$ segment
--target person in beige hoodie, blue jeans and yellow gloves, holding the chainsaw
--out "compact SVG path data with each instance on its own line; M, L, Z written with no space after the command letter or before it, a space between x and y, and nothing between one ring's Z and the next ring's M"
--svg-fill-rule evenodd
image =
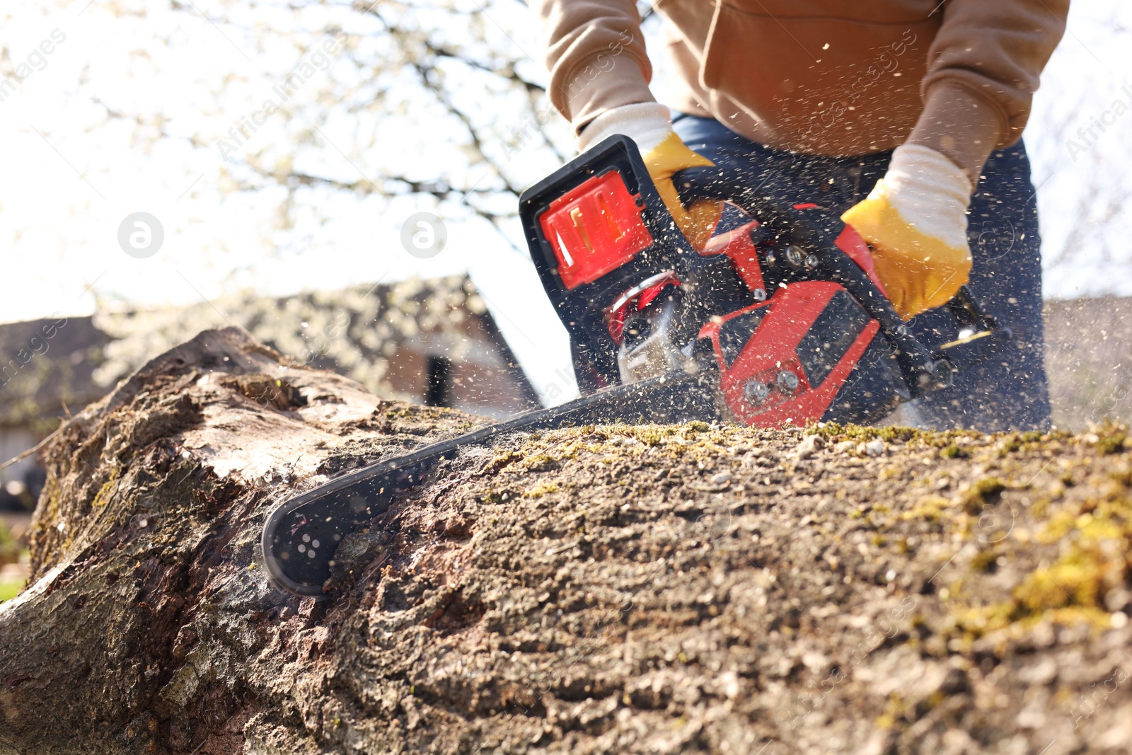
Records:
M920 400L919 421L1048 427L1037 204L1020 138L1069 0L662 0L675 118L649 89L633 0L532 6L551 101L578 148L633 138L694 246L719 208L680 206L670 177L685 168L726 165L764 194L843 212L925 343L954 337L953 318L931 310L968 282L1014 333Z

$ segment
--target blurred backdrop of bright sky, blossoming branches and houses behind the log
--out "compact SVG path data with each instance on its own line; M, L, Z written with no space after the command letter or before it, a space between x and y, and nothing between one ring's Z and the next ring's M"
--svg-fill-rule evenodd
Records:
M0 462L226 325L394 398L505 417L576 395L516 217L574 154L524 3L17 0L0 19ZM1026 134L1067 429L1132 414L1130 29L1126 2L1074 3ZM42 483L34 454L0 470L0 600Z

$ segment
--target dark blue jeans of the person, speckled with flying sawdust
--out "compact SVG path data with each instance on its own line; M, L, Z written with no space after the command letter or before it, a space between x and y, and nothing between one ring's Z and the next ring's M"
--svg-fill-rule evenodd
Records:
M813 201L838 213L864 199L884 175L891 152L822 157L772 149L710 118L674 113L676 132L717 165L732 168L762 192L791 204ZM971 198L968 238L975 266L970 288L983 309L1009 326L1014 341L1002 353L968 368L954 385L915 402L919 423L983 431L1049 427L1049 395L1043 363L1041 240L1030 161L1019 141L990 154ZM745 221L724 213L721 230ZM909 326L929 348L951 341L959 328L949 311L933 310Z

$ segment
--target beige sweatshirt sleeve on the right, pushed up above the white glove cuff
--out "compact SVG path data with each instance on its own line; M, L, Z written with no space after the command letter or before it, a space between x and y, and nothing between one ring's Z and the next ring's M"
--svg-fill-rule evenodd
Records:
M1069 0L946 0L928 51L912 137L977 177L1022 136L1038 78L1065 32Z

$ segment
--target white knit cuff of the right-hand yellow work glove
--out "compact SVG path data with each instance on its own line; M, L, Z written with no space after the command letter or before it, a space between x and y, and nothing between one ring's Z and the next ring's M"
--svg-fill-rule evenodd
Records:
M919 144L904 144L869 195L886 197L904 222L947 246L967 243L967 207L971 204L967 172L941 153Z

